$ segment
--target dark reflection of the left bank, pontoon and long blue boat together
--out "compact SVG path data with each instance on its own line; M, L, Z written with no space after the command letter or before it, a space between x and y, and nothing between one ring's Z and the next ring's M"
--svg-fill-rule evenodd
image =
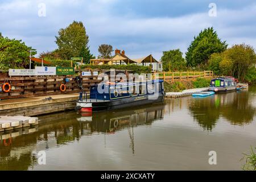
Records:
M164 105L155 105L82 116L73 111L43 115L39 117L39 126L0 133L0 171L33 169L38 166L36 152L48 151L99 132L113 134L128 129L127 137L134 152L133 127L151 125L154 120L163 118L163 108Z

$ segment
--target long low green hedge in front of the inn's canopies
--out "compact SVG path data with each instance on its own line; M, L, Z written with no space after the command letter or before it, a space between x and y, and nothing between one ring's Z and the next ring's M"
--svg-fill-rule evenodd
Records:
M128 64L128 65L109 65L109 64L102 64L102 65L90 65L84 64L81 65L81 69L88 68L88 69L126 69L131 70L134 73L151 73L150 67L145 67L136 64Z

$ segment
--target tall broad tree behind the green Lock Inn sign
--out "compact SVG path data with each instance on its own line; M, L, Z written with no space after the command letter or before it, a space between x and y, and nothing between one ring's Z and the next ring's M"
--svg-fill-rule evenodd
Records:
M62 59L78 57L82 48L88 49L89 37L82 22L73 21L68 27L61 28L58 34L55 42Z

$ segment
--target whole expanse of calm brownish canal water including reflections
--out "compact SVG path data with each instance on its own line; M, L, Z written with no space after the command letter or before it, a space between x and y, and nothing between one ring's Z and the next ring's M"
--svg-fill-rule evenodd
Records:
M0 170L240 170L256 146L256 87L109 112L56 113L0 133ZM209 152L217 164L209 164ZM215 156L215 155L214 155Z

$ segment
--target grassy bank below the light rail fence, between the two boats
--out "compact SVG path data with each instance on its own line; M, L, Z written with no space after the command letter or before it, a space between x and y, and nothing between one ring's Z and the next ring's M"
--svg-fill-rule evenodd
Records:
M165 92L181 92L186 89L203 88L210 85L210 78L197 78L196 80L164 81Z

